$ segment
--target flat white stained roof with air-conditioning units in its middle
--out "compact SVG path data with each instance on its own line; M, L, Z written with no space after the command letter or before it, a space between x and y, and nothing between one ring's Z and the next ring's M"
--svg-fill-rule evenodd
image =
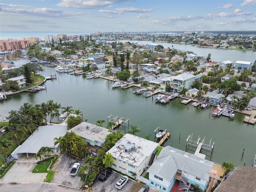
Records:
M129 142L131 144L129 144ZM125 148L134 146L133 143L135 144L137 150L125 152ZM114 158L138 167L146 157L149 157L152 152L154 152L157 146L158 143L156 142L127 133L118 142L116 142L116 144L108 152L111 153Z

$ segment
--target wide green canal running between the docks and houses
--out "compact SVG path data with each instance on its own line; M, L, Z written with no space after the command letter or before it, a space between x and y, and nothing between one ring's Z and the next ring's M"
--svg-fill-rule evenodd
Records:
M25 64L27 60L15 59L17 66ZM155 103L150 98L133 94L135 88L122 90L112 89L111 83L102 78L86 79L83 76L72 76L55 71L54 68L44 67L44 76L57 74L56 80L46 81L46 90L36 93L24 92L8 96L7 100L0 101L0 114L8 116L10 110L18 110L24 102L40 104L48 100L60 103L62 106L72 106L73 109L83 111L83 118L96 124L97 120L106 120L107 117L123 117L129 119L129 124L140 128L138 136L145 138L151 134L154 140L154 130L160 126L171 132L170 138L164 146L170 145L185 150L186 138L193 134L192 139L205 143L214 142L212 161L221 164L231 161L236 166L252 166L256 153L256 127L243 122L244 115L235 114L234 118L220 116L213 117L212 108L206 110L195 108L190 104L181 104L176 98L167 104ZM3 118L0 117L0 118ZM104 124L106 127L106 124ZM129 128L120 127L121 132ZM244 156L242 152L244 150Z

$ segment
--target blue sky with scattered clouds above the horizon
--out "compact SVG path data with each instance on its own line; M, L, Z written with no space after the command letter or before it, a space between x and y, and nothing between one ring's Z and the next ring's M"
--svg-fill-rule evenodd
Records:
M1 0L0 32L256 30L256 0Z

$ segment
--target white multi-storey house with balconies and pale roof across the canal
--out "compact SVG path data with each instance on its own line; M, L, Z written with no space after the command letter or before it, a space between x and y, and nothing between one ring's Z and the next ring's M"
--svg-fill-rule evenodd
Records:
M190 73L182 73L171 77L170 86L174 93L180 93L183 89L191 89L194 82L194 75Z

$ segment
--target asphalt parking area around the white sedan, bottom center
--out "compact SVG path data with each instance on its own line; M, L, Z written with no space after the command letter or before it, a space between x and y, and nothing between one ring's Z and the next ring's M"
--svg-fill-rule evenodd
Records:
M136 183L132 180L128 180L128 182L122 187L121 190L115 187L116 182L121 178L120 174L113 172L106 181L99 181L98 179L94 183L92 187L92 192L135 192L140 189L142 184Z

